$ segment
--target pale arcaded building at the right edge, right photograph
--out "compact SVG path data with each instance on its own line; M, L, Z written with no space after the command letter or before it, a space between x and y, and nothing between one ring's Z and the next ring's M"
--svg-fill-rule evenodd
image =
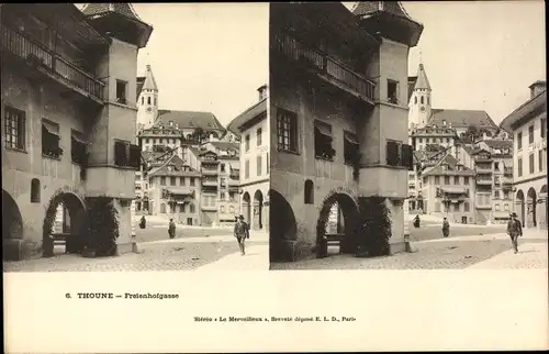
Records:
M547 84L501 123L513 134L513 210L528 229L547 229Z

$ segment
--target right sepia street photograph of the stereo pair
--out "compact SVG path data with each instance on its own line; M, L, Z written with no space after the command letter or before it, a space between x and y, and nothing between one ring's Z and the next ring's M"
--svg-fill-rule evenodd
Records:
M271 3L271 269L547 268L540 9Z

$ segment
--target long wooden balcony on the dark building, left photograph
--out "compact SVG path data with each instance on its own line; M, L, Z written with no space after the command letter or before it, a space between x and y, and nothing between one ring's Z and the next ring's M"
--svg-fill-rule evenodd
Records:
M60 57L44 44L33 41L22 33L0 25L0 47L2 52L25 60L27 65L45 76L63 84L72 91L93 101L103 103L104 84L77 65Z

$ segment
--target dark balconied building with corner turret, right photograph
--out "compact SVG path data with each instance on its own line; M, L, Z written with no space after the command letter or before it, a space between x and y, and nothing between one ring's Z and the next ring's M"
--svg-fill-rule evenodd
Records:
M373 196L404 251L407 56L422 31L400 2L270 5L271 261L318 251L335 203L356 252L358 206Z

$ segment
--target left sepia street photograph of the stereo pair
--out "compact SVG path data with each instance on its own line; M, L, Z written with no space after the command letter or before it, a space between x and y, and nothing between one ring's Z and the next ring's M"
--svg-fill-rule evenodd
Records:
M267 4L0 9L4 272L268 269Z

